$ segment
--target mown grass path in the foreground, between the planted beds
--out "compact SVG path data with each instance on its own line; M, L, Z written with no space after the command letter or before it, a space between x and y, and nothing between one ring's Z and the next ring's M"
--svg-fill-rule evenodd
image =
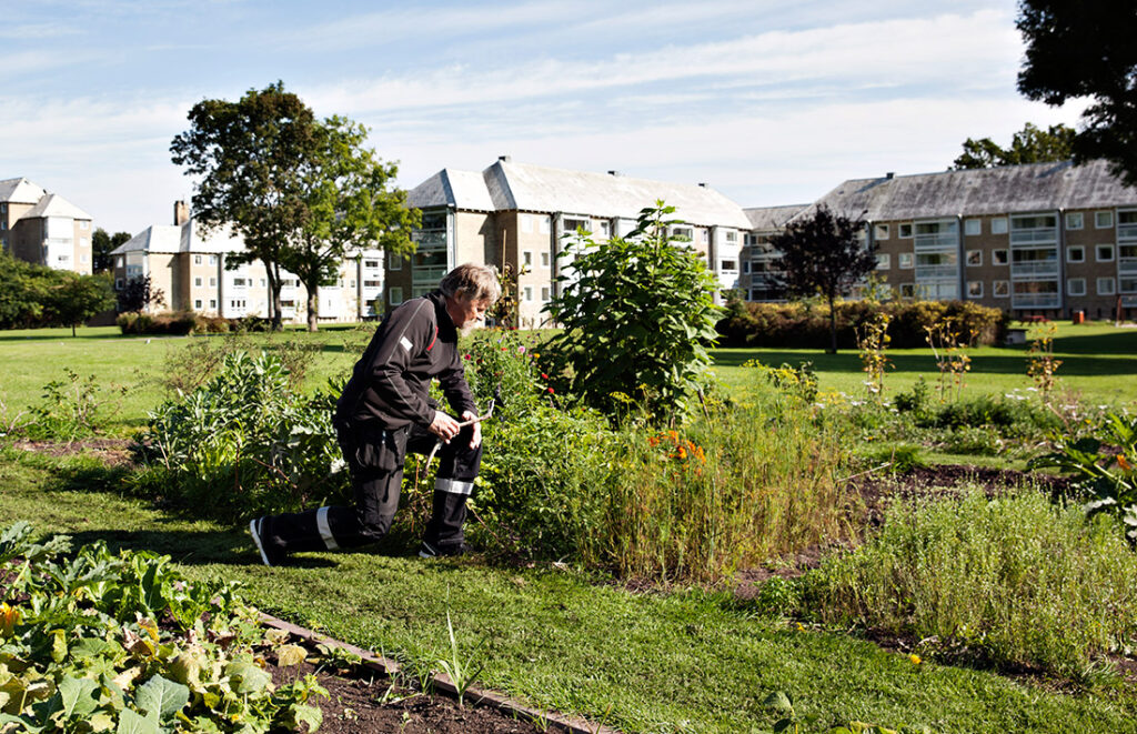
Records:
M551 567L492 568L313 554L260 566L241 529L119 497L98 462L0 451L0 525L25 518L81 543L172 554L198 577L238 579L263 609L420 665L482 639L481 683L631 732L767 731L762 706L790 691L829 725L857 718L936 732L1137 732L1129 689L1057 693L989 672L931 664L828 632L797 632L729 593L629 593ZM93 489L86 489L93 487ZM820 725L819 729L822 728Z

